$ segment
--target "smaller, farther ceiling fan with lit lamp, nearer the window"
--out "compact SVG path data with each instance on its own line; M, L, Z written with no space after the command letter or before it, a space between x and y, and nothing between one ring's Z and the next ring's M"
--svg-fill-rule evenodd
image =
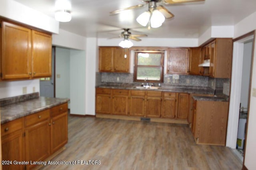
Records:
M123 48L132 47L133 43L128 39L135 40L135 41L141 41L141 39L139 39L138 37L146 37L147 36L146 34L138 34L138 35L132 34L131 32L129 32L129 30L130 30L129 28L123 28L123 30L124 31L121 32L121 34L118 37L114 37L114 38L124 38L124 40L122 40L119 43L119 46L123 47Z

